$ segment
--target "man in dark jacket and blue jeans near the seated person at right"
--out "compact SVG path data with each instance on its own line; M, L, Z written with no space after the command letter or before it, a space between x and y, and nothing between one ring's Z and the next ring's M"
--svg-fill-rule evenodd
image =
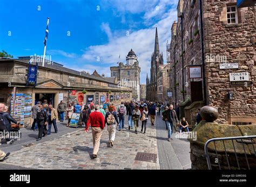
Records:
M173 105L169 106L168 110L165 110L163 112L163 118L165 118L167 127L168 127L168 141L171 141L172 138L172 133L173 133L173 124L174 124L174 119L176 120L176 123L179 124L179 120L177 118L176 111L173 110Z

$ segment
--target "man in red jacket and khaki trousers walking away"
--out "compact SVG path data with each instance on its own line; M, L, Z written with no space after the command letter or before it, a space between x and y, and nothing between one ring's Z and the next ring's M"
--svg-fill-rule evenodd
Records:
M100 137L102 136L103 128L105 126L105 119L102 113L99 112L99 105L95 106L95 112L91 112L87 120L85 132L88 133L89 126L92 127L92 139L93 139L93 159L97 158L99 150Z

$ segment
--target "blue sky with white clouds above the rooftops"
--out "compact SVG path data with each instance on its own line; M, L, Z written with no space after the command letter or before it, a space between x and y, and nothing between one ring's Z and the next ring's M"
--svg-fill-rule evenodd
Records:
M132 48L141 68L140 83L145 84L156 27L166 63L177 4L178 0L1 0L0 50L14 58L43 56L49 17L46 57L67 68L90 74L96 69L110 77L110 67L126 63Z

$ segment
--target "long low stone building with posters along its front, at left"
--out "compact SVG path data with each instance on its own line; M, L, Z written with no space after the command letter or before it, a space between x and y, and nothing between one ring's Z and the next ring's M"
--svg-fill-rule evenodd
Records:
M118 87L115 78L90 75L68 69L58 63L38 63L37 85L26 85L30 59L0 59L0 103L9 106L12 116L24 126L31 124L31 107L39 100L48 100L57 109L60 100L95 104L111 102L119 105L131 100L132 89ZM15 93L15 102L12 94Z

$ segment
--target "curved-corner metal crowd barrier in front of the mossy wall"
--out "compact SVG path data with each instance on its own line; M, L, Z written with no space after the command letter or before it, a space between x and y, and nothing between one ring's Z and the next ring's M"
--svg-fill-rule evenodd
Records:
M255 148L254 148L254 143L255 142L253 142L253 138L256 138L256 135L253 135L253 136L236 136L236 137L227 137L227 138L213 138L213 139L208 140L205 143L205 155L206 155L208 169L212 169L212 165L211 165L211 161L210 161L210 156L208 154L208 147L207 146L212 141L214 143L214 148L215 148L215 153L216 153L216 156L217 156L217 159L218 159L219 169L221 169L221 167L220 167L220 162L219 162L219 157L218 157L218 152L217 152L217 149L216 149L215 141L222 141L223 142L223 146L224 146L224 149L225 149L225 155L226 155L226 159L227 159L228 169L230 169L230 162L228 161L228 154L227 154L226 147L225 147L225 142L224 142L226 140L231 140L232 141L233 148L234 148L235 159L237 160L238 169L240 169L240 165L239 165L238 157L237 157L237 152L235 151L235 146L234 146L234 141L233 141L233 140L236 140L237 142L242 143L242 147L244 148L246 163L247 163L248 169L250 170L250 165L248 163L248 158L247 158L247 155L246 155L244 143L252 143L254 156L256 157L256 152L255 152ZM248 140L248 139L250 139L250 140Z

